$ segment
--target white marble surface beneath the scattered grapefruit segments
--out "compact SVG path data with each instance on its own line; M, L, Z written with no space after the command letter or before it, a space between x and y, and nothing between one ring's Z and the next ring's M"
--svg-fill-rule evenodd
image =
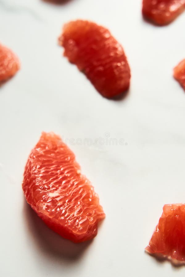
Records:
M132 71L125 99L103 98L62 57L61 26L77 18L122 43ZM185 94L172 78L184 26L185 14L167 27L144 22L136 0L0 0L0 40L22 67L0 87L2 277L184 276L144 252L163 205L185 202ZM60 238L24 200L24 166L43 130L75 139L109 132L128 143L70 146L106 213L91 243Z

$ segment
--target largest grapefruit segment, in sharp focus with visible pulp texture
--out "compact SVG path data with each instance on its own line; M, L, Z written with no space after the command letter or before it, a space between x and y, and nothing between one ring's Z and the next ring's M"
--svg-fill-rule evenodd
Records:
M74 153L54 133L42 133L27 160L23 179L27 202L52 230L82 242L97 235L105 217Z

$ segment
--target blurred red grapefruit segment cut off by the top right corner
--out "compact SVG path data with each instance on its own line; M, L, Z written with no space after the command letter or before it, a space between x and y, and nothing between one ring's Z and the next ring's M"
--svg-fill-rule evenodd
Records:
M143 0L142 14L157 25L167 25L185 9L185 0Z

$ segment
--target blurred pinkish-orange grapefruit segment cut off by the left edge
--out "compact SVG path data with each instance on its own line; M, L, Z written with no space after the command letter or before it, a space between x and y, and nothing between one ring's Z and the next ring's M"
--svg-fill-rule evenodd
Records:
M0 44L0 82L14 76L19 68L17 56L9 48Z

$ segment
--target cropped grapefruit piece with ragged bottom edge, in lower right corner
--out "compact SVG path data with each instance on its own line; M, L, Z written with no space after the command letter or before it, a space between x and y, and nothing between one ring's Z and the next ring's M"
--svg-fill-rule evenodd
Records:
M185 262L185 204L167 204L146 252L172 263Z

